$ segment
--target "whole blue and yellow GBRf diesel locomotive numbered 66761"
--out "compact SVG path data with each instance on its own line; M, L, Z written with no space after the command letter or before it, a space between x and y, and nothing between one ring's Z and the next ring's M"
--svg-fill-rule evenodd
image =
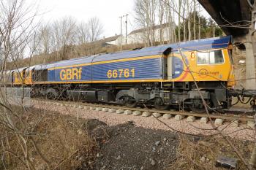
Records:
M146 104L203 112L231 107L235 91L231 36L106 53L10 70L3 81L32 96ZM200 93L196 87L200 90Z

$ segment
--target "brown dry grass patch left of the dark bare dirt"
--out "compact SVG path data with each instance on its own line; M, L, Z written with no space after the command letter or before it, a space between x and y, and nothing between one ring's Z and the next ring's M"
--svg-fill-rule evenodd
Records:
M26 125L31 125L27 129L31 136L34 136L42 155L50 162L51 169L88 169L90 167L90 162L95 158L96 142L89 137L86 129L81 128L86 127L85 120L33 109L23 115L23 121ZM6 128L0 125L1 136L4 136L5 131ZM7 134L10 133L7 131ZM4 164L7 169L26 169L26 165L21 161L23 160L22 150L18 147L15 135L5 138L3 144L6 149L9 148L13 152L13 154L4 155ZM35 168L45 169L46 164L31 142L28 147L30 161ZM2 144L0 154L3 155ZM0 169L4 169L3 161L0 163Z

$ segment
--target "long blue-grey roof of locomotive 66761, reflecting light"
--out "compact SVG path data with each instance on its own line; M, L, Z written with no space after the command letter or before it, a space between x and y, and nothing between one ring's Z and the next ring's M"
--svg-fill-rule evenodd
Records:
M198 39L189 42L180 42L169 45L159 45L155 47L145 47L140 50L129 50L118 53L106 53L99 55L85 56L82 58L72 58L65 61L58 61L55 63L48 63L34 66L35 70L50 69L56 66L72 66L80 63L91 63L97 61L110 61L123 58L135 58L146 55L162 55L168 49L177 52L178 49L185 50L209 50L214 48L225 48L231 42L231 36L214 37L209 39Z

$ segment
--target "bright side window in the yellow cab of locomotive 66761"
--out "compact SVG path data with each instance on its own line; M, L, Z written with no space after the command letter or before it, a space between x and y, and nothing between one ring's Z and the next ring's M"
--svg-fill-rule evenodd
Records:
M224 63L222 50L212 50L197 53L197 64L218 64Z

